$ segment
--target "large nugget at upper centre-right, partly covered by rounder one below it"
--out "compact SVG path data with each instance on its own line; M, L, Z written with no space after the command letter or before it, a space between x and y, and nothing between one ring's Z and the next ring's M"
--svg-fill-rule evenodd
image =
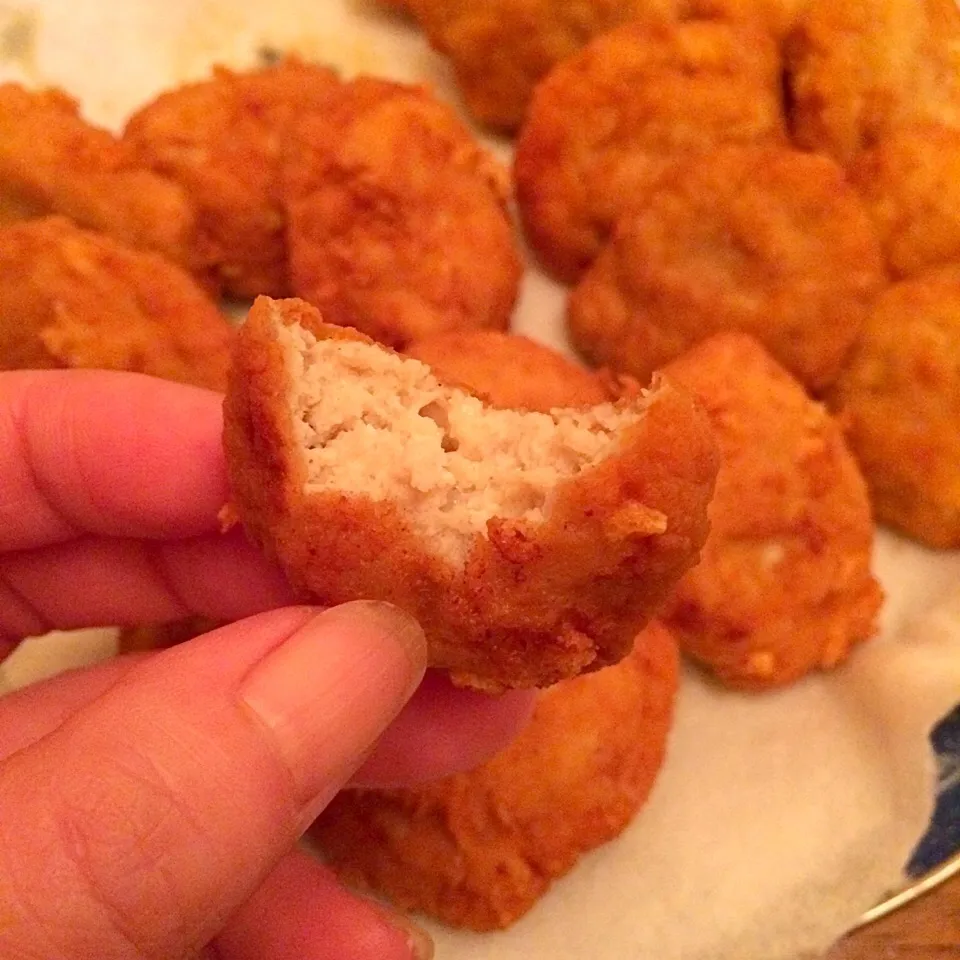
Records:
M745 23L633 23L537 87L517 141L517 202L534 250L563 280L670 163L723 142L782 139L779 55Z

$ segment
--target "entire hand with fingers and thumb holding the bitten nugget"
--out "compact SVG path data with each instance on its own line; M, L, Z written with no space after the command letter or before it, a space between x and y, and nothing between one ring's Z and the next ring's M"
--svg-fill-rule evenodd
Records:
M0 374L0 656L52 628L237 620L0 699L0 956L407 960L429 945L298 850L347 783L472 766L530 698L424 673L385 605L295 605L227 497L220 398Z

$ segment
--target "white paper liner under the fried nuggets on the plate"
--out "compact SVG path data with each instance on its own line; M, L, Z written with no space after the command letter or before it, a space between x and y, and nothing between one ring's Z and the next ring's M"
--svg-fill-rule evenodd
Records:
M5 43L10 31L19 45ZM424 80L456 101L442 61L373 3L0 0L0 78L60 85L110 126L215 62L252 65L262 47ZM514 329L564 347L563 300L531 270ZM439 956L797 960L899 885L932 810L927 734L960 700L960 552L881 533L876 569L888 591L880 638L837 673L773 695L688 672L667 764L635 823L510 930L432 926ZM102 631L31 641L0 670L0 690L113 648Z

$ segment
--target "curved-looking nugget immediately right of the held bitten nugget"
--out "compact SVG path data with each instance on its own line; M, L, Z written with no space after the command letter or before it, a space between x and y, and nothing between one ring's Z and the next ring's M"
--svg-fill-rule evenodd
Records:
M867 490L840 425L742 334L665 373L706 407L722 461L710 536L664 621L730 686L836 666L875 632L882 599Z

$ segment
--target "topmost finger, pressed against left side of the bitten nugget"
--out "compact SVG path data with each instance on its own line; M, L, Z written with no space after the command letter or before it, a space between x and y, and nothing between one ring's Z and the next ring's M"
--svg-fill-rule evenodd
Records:
M0 551L215 530L228 491L221 403L141 374L0 374Z

